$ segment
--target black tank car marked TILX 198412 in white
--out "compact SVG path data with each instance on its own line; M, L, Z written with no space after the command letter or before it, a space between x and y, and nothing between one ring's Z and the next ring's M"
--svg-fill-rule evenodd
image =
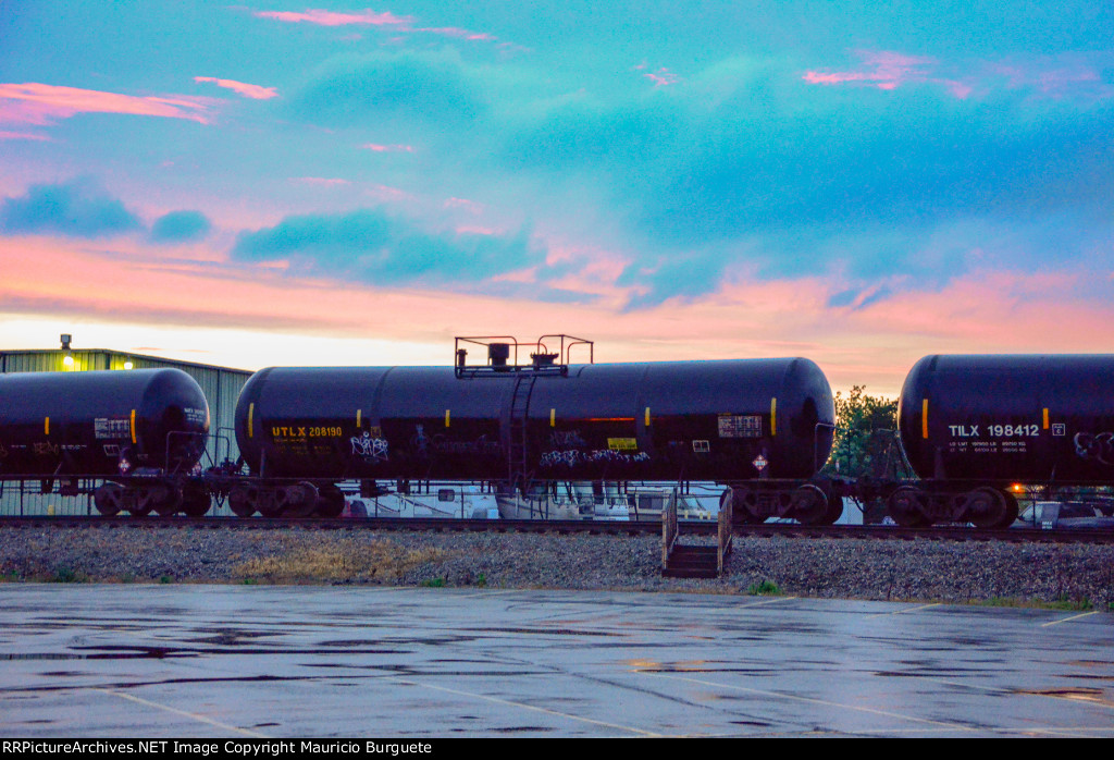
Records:
M1017 517L1014 484L1114 485L1114 355L930 355L909 372L901 444L922 480L902 525Z

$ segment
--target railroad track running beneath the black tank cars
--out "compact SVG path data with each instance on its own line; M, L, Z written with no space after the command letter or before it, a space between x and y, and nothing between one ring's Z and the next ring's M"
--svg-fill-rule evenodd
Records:
M0 516L0 529L43 527L90 530L144 530L179 528L195 530L387 530L433 533L553 533L639 536L661 534L656 522L620 520L491 520L430 517L370 517L367 519L314 519L264 517L84 517L84 516ZM682 535L713 536L714 523L681 522ZM965 526L902 528L887 525L809 526L795 523L736 525L735 536L783 536L791 538L843 538L889 540L1007 540L1012 543L1114 544L1114 528L1022 528L979 530Z

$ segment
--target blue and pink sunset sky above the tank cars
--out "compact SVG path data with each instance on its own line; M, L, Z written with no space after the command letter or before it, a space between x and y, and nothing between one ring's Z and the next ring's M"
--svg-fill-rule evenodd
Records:
M1114 6L0 0L0 350L1112 352Z

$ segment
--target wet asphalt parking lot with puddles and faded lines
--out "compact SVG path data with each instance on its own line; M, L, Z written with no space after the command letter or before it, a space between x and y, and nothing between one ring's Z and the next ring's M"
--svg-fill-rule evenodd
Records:
M791 597L6 584L0 733L1111 737L1112 634Z

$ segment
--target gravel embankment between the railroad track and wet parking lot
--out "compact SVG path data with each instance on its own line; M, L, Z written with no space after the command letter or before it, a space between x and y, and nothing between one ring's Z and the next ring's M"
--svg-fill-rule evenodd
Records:
M658 537L213 528L0 528L9 582L316 583L1114 603L1114 547L736 538L716 579L661 575Z

